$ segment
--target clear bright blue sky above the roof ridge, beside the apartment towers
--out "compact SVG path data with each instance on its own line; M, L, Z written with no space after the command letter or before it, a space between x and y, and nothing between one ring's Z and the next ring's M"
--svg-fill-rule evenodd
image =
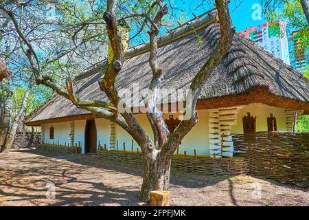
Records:
M213 8L209 3L205 3L205 5L196 9L196 6L200 5L201 2L201 0L176 0L176 6L187 12L190 19L193 19L194 17L190 12L194 12L194 14L198 15ZM266 22L263 16L262 19L252 19L252 14L256 10L256 8L252 9L252 7L256 3L260 3L260 0L231 0L229 8L233 25L236 26L236 31L244 30L249 26L259 25L260 23Z

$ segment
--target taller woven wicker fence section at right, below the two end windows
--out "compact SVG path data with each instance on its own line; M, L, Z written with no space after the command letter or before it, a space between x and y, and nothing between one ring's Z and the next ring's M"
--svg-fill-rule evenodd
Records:
M258 132L233 142L251 175L309 186L309 133Z

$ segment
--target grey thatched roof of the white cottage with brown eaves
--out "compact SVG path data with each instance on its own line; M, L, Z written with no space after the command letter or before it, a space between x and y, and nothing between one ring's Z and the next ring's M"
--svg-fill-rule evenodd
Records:
M207 60L218 39L219 25L214 23L159 47L159 66L164 71L163 88L190 87L192 79ZM133 83L139 83L139 89L148 88L152 77L148 58L148 52L130 58L119 74L117 87L132 88ZM92 72L91 76L84 74L84 78L76 80L78 96L106 100L106 95L98 86L98 79L104 74L104 62L102 64L102 72ZM253 41L235 34L228 55L207 79L197 109L264 103L309 111L308 94L307 78ZM54 96L27 118L26 124L35 126L50 121L86 118L93 118L93 115L76 108L65 98Z

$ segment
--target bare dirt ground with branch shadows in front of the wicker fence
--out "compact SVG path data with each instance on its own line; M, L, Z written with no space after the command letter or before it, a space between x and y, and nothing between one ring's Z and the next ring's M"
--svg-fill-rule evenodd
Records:
M141 173L93 155L13 151L0 155L0 206L143 206ZM177 174L170 190L172 206L309 205L308 189L249 176Z

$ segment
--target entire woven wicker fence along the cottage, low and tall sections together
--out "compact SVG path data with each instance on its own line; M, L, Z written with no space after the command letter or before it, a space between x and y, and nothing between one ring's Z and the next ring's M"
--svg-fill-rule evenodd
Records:
M196 175L250 174L290 184L309 186L309 133L267 133L233 135L233 158L174 156L172 172ZM80 153L80 146L43 144L40 151ZM98 158L127 166L143 166L140 152L107 151L99 146Z

